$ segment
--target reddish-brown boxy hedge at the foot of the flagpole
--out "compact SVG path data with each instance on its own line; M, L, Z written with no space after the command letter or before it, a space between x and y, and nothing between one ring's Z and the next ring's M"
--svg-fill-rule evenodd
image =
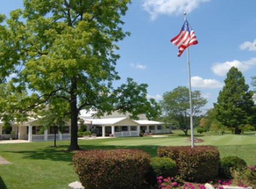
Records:
M207 182L218 176L220 152L214 146L158 147L158 157L175 160L178 175L185 181Z

